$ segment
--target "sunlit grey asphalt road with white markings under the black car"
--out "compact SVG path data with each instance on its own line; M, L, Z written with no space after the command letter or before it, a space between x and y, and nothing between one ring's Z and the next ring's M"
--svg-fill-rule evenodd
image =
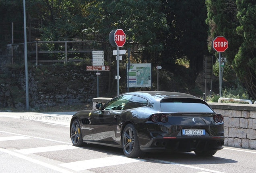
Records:
M190 153L124 156L122 149L72 146L74 112L0 113L1 173L255 173L256 150L224 147L213 157Z

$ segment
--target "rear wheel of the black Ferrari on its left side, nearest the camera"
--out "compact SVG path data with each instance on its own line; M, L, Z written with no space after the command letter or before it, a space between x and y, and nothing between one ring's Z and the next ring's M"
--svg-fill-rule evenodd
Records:
M143 157L145 152L140 150L134 125L128 124L122 133L122 149L126 157Z

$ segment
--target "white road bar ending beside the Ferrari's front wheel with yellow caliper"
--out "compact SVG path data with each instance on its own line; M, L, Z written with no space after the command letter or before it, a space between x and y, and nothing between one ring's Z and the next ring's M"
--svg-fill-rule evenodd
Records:
M49 147L37 147L37 148L29 148L29 149L20 149L15 150L19 153L23 154L31 154L31 153L42 153L48 151L60 151L60 150L67 150L67 149L78 149L79 147L75 147L73 145L55 145Z

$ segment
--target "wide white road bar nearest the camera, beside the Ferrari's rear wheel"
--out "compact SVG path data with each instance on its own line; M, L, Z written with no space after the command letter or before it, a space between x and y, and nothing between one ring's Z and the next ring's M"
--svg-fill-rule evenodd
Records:
M104 157L104 158L91 159L91 160L85 160L85 161L63 163L63 164L60 164L60 166L66 167L68 169L72 169L74 171L82 171L85 169L121 165L126 163L134 163L138 161L146 161L146 160L132 159L125 156L113 156L113 157Z

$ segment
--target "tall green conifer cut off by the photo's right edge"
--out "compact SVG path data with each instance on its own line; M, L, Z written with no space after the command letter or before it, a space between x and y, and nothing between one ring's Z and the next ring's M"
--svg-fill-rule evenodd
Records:
M233 66L248 93L256 99L256 2L255 0L237 0L237 18L240 26L237 33L243 37L243 43L236 54Z

